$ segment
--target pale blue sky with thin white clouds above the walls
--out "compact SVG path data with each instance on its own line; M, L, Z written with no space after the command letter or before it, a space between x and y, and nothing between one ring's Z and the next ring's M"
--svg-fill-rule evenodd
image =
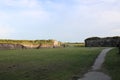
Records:
M0 39L111 36L120 36L120 0L0 0Z

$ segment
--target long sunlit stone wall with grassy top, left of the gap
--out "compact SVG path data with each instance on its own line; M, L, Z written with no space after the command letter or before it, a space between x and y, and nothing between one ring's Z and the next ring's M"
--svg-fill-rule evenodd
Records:
M61 42L57 40L0 40L0 49L40 49L60 46Z

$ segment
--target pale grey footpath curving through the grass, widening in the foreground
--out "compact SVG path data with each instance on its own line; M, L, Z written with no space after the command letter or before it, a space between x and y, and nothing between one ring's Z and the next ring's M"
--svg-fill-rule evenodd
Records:
M112 48L104 49L96 59L94 65L92 66L92 70L86 73L83 78L78 80L111 80L111 78L108 75L99 71L104 62L107 52L110 51L111 49Z

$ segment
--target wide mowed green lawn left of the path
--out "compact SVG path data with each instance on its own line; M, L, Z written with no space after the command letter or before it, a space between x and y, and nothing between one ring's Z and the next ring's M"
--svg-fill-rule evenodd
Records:
M0 80L72 80L103 48L0 50Z

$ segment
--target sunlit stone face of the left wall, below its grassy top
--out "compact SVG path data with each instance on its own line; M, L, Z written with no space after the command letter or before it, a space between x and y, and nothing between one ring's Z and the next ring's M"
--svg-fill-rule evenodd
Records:
M60 42L53 40L51 43L38 44L15 44L15 43L0 43L0 49L39 49L39 48L55 48L59 47Z

